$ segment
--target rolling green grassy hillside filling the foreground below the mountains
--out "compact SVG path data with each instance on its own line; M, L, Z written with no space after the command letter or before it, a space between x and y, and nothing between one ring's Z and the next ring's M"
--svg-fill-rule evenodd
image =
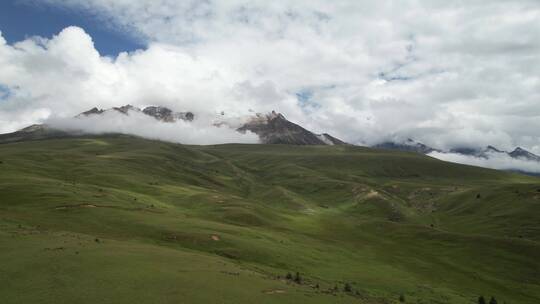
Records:
M0 162L3 303L540 303L537 178L124 136L1 144Z

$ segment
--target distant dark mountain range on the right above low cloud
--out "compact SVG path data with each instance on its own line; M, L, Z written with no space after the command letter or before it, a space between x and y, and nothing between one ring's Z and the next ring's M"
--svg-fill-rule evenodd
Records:
M474 157L485 158L485 159L489 159L490 157L493 157L493 155L499 154L499 155L507 155L513 159L540 162L540 156L534 153L531 153L521 147L517 147L511 152L499 150L493 146L487 146L483 149L463 147L463 148L454 148L448 151L444 151L442 149L436 149L436 148L427 146L423 143L417 142L410 138L404 142L387 141L387 142L373 145L372 147L378 148L378 149L416 152L416 153L421 153L421 154L429 154L432 152L454 153L454 154L474 156Z

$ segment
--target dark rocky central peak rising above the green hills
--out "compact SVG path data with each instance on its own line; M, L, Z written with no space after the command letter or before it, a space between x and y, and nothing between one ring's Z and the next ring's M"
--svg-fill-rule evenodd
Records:
M285 116L272 111L257 114L243 126L240 132L251 131L265 144L289 145L345 145L346 143L329 134L314 134L303 127L288 121Z

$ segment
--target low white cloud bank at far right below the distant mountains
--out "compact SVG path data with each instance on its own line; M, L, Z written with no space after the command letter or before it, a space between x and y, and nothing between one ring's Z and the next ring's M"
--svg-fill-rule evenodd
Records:
M526 159L512 158L506 153L487 153L487 157L477 157L471 155L443 152L432 152L428 155L444 161L477 167L540 173L539 162Z

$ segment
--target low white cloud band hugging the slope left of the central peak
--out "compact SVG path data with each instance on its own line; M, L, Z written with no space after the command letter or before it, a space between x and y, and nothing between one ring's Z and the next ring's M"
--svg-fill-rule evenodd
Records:
M191 122L161 122L148 115L129 111L128 115L106 111L101 115L72 118L51 117L45 123L56 129L88 134L121 133L151 139L189 144L258 143L259 137L251 132L239 133L229 124L214 125L209 117Z

